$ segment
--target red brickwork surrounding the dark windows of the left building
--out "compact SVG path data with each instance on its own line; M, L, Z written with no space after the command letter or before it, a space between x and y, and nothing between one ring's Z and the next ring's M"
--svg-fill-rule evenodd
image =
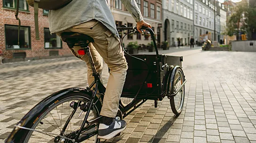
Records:
M18 20L15 18L15 10L3 8L3 0L0 0L0 50L3 51L3 58L10 60L13 57L13 53L26 52L26 58L31 57L47 57L49 51L58 51L59 55L72 54L65 42L62 42L62 49L45 49L44 48L44 28L49 28L48 17L43 15L42 9L38 12L39 19L39 36L40 40L35 39L34 28L34 9L29 6L29 12L19 11L18 17L21 20L21 26L30 27L31 35L31 49L29 50L6 50L5 45L5 24L18 25Z

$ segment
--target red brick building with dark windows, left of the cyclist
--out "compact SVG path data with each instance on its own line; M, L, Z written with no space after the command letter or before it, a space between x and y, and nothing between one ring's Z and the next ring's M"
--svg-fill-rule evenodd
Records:
M20 0L18 17L21 28L18 46L16 0L0 0L0 7L0 50L3 52L3 62L72 55L66 43L61 42L58 36L50 35L48 11L39 9L40 40L36 40L33 7L28 6L26 0Z

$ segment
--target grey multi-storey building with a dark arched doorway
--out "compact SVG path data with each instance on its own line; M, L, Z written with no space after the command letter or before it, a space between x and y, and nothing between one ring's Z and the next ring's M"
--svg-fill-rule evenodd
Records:
M163 0L163 37L175 45L180 38L181 45L189 45L194 36L193 0Z

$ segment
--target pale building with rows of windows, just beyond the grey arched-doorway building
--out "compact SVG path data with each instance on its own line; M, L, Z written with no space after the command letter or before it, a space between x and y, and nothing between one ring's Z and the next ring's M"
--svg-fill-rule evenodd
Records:
M214 37L214 0L194 1L194 25L195 40L200 41L200 35L210 34L209 39Z

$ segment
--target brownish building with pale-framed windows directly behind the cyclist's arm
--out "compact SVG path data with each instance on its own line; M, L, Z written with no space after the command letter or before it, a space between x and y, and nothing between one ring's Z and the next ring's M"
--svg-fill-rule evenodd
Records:
M162 0L136 0L140 12L143 15L145 22L150 23L152 30L155 32L157 44L162 40ZM127 25L128 27L136 26L136 22L132 15L124 8L121 0L110 0L110 9L114 15L116 26ZM122 38L126 31L120 32L119 36ZM124 38L124 45L126 46L130 41L137 41L138 44L148 45L152 40L146 35L129 34Z

